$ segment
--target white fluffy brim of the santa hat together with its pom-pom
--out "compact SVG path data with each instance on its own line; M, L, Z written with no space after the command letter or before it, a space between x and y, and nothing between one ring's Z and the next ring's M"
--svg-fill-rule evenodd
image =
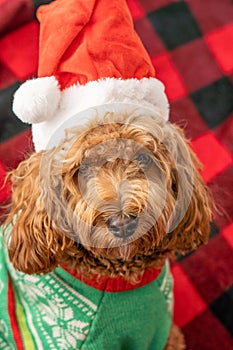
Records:
M23 88L25 84L37 84L37 81L42 81L42 79L46 81L46 78L32 80L24 83L22 89L25 89ZM47 79L48 95L45 94L46 90L43 88L37 91L34 90L33 101L37 100L38 102L32 103L31 97L29 97L28 103L30 108L26 109L26 106L25 109L21 108L24 112L21 113L21 119L33 124L33 142L37 152L42 149L48 149L48 145L53 145L51 147L54 147L60 143L62 136L61 138L56 137L55 143L50 143L49 141L58 128L69 124L67 124L69 119L72 118L72 127L86 124L87 119L79 112L95 106L112 103L133 104L152 110L155 115L160 115L165 121L168 120L169 103L164 91L164 85L156 78L143 78L141 80L134 78L127 80L116 78L99 79L97 81L90 81L86 85L75 84L60 93L57 91L52 92L53 86L55 90L58 88L55 78L50 77ZM51 87L51 90L49 87ZM15 113L18 111L16 106L18 105L18 99L21 94L20 90L21 88L15 94L13 108ZM29 88L29 95L30 90L32 89ZM43 106L43 103L45 103L45 106ZM117 111L117 109L115 110ZM19 115L19 113L16 114ZM77 117L75 119L74 116L76 114Z

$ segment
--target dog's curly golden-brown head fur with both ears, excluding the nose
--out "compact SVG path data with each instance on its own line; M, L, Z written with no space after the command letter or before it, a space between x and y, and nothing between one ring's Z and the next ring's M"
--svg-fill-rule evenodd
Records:
M11 174L9 257L25 273L58 265L135 281L175 251L207 242L211 211L183 132L161 118L106 116ZM137 218L130 237L111 218Z

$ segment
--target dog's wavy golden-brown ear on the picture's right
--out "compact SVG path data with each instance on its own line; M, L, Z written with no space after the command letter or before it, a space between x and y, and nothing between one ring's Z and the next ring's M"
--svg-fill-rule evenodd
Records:
M173 137L169 138L167 147L175 161L175 167L171 170L170 191L176 202L163 246L184 253L208 241L211 196L200 175L201 164L183 131L175 125L172 128Z

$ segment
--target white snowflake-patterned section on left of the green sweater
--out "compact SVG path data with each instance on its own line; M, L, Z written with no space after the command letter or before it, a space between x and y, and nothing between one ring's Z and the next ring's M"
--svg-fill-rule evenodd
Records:
M29 327L36 348L43 349L40 341L42 334L51 350L77 349L89 332L97 306L72 290L55 273L43 277L28 276L16 272L12 267L10 273L28 320L32 312L28 305L34 307L35 323L40 329L40 334L32 322L29 323ZM80 320L75 319L77 308Z

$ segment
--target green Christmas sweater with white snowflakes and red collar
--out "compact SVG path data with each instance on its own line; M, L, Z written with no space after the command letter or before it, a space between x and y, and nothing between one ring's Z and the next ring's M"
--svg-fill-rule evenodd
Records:
M162 350L172 314L168 262L140 286L84 283L63 268L16 271L0 240L0 349Z

